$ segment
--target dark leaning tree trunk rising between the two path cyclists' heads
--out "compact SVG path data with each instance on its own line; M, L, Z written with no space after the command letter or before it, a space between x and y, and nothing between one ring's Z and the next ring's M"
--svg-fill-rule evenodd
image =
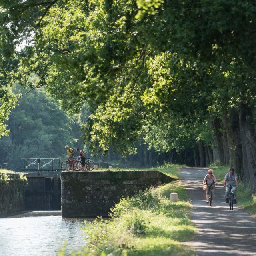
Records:
M209 122L210 127L213 131L212 137L214 143L218 148L218 159L220 160L220 164L224 164L224 152L223 152L223 140L222 140L222 132L220 131L221 127L221 120L220 118L216 117L213 121Z

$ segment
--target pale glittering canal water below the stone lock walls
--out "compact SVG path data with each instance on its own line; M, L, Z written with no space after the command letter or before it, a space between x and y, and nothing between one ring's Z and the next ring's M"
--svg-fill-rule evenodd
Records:
M54 256L66 241L66 254L85 244L84 220L57 216L0 218L0 256Z

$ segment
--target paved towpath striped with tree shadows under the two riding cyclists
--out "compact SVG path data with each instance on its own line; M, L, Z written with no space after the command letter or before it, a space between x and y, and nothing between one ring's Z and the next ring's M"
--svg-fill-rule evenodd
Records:
M197 256L256 256L256 220L241 208L231 211L224 202L224 188L217 186L213 207L206 204L202 180L207 169L182 168L182 179L192 200L192 222L199 230L191 242ZM239 200L239 198L238 198Z

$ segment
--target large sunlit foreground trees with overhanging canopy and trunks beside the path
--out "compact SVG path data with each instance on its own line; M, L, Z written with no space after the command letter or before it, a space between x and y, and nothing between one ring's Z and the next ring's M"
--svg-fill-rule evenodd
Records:
M230 163L256 190L255 2L0 4L5 66L31 41L10 80L45 86L67 110L86 101L92 150L130 154L142 139L156 152L194 148L195 164Z

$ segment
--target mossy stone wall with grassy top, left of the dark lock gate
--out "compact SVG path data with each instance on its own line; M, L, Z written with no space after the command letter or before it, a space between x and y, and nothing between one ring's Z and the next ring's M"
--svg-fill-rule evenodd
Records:
M0 173L0 215L25 210L27 180L19 173Z

